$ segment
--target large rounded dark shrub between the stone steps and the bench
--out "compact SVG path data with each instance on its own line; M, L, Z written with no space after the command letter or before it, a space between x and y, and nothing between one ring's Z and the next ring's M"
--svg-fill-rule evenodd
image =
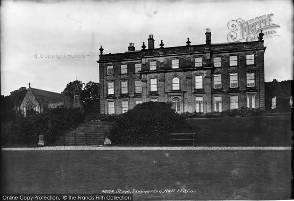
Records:
M193 128L170 103L144 102L118 117L110 130L114 144L163 144L170 133L189 133Z

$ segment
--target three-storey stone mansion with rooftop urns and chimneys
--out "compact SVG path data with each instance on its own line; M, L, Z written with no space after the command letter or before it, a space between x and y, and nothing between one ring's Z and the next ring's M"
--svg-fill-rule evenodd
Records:
M99 55L100 113L120 114L147 101L172 102L176 112L265 107L263 33L258 41L154 47Z

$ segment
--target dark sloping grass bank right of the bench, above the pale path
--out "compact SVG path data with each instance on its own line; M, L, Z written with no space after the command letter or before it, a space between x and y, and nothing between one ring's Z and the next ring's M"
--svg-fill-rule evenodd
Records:
M206 146L291 146L291 116L187 119L210 133Z

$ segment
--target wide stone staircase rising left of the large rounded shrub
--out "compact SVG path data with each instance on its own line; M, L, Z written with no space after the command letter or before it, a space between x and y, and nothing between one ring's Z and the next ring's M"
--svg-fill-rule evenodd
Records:
M105 134L113 126L114 121L89 121L81 124L75 130L60 136L50 146L86 146L103 145Z

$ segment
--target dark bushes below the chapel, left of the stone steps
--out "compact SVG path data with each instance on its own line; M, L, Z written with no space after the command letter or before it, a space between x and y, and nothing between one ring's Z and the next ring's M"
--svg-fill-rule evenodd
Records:
M55 141L62 131L77 127L85 115L78 109L57 108L44 114L32 113L27 117L18 115L13 121L2 125L2 144L37 144L39 135L45 141Z

